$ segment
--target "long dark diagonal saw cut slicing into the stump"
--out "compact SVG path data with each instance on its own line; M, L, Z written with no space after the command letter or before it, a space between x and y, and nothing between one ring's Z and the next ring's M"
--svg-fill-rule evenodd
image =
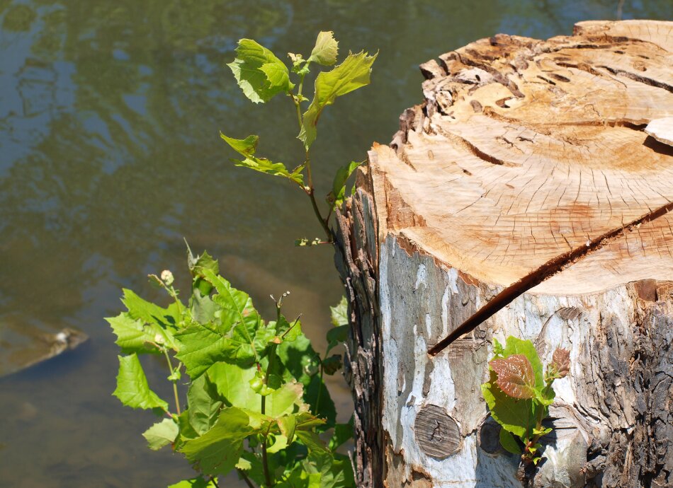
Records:
M494 296L491 301L486 303L485 306L477 310L470 318L465 320L462 324L456 327L451 334L444 337L431 347L428 351L428 354L431 356L436 356L443 349L446 349L453 341L458 339L468 332L472 332L485 320L491 318L495 313L502 308L506 307L514 301L516 298L526 293L534 286L538 286L546 279L553 277L555 274L562 272L567 267L574 265L585 257L592 255L597 250L603 248L605 245L613 242L614 240L625 236L627 232L634 231L640 227L641 224L651 222L660 216L664 216L669 211L673 210L673 202L668 202L667 204L662 205L653 211L626 223L626 225L615 228L611 231L604 233L594 240L588 240L586 245L583 245L579 248L575 248L568 252L564 252L561 255L553 257L548 262L545 262L543 265L535 269L533 272L528 273L525 277L521 278L516 283L507 286L499 294Z

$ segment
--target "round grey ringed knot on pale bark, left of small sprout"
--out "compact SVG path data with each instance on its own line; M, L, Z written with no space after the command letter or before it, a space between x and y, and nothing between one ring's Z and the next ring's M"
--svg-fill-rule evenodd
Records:
M446 458L456 453L460 446L460 429L456 420L437 405L422 407L416 416L414 431L421 451L433 458Z

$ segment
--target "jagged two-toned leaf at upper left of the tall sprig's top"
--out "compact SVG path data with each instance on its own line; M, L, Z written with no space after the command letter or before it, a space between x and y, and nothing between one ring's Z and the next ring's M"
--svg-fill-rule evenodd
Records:
M254 40L242 39L236 54L236 59L227 66L243 94L252 102L266 103L276 94L291 89L288 68L266 47Z

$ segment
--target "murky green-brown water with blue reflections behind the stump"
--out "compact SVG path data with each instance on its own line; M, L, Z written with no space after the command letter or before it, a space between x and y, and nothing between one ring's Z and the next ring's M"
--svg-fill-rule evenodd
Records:
M300 161L292 105L242 98L225 62L240 37L308 53L334 30L341 53L380 50L373 86L322 116L317 185L387 143L397 116L421 99L417 69L494 33L568 34L575 21L615 18L618 1L12 1L0 0L0 347L3 331L38 337L62 327L91 340L0 380L0 486L162 487L191 469L152 453L149 412L113 397L117 349L103 317L121 287L157 298L148 273L172 269L181 288L183 237L220 257L222 273L271 315L268 294L290 289L288 314L324 347L327 307L341 287L305 197L234 168L217 131L258 133L259 153ZM673 2L626 1L624 18L673 18ZM7 335L11 339L11 335ZM159 361L150 382L169 397ZM343 379L330 383L349 417ZM235 477L222 486L242 486Z

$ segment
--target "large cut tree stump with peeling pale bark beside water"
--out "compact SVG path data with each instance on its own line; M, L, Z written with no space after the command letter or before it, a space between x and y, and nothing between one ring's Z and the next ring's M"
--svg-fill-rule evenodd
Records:
M421 69L338 215L358 487L521 487L480 391L509 335L572 361L526 484L673 486L673 23Z

